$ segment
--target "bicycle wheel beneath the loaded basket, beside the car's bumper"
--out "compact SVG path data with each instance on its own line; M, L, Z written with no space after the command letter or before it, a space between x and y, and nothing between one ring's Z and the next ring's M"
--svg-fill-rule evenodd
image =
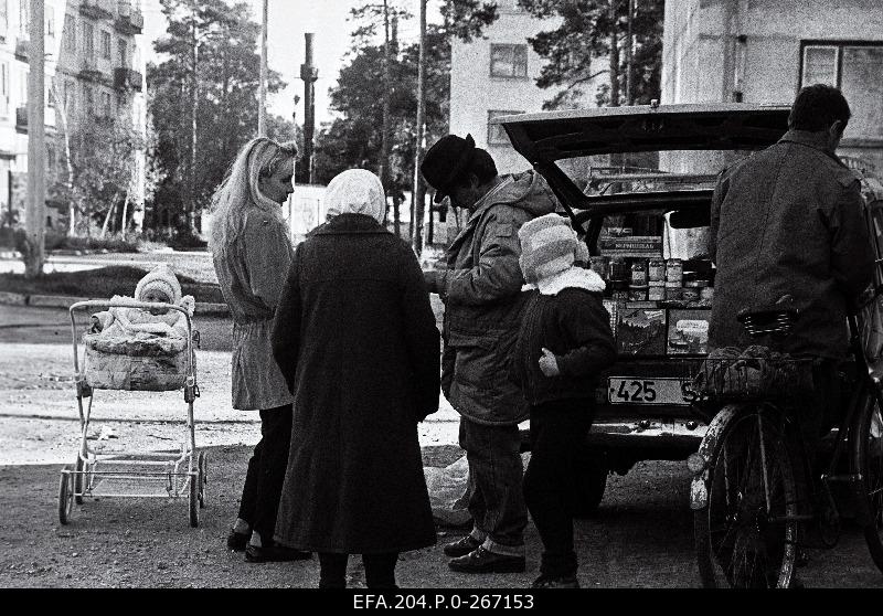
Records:
M757 411L735 415L722 429L706 470L708 507L695 511L693 520L703 586L788 587L797 488L781 429Z

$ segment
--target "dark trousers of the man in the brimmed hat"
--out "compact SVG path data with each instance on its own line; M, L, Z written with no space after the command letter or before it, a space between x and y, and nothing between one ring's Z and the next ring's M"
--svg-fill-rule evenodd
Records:
M487 426L460 418L460 447L466 449L472 491L469 513L475 531L491 552L524 553L528 511L521 490L521 437L518 425Z

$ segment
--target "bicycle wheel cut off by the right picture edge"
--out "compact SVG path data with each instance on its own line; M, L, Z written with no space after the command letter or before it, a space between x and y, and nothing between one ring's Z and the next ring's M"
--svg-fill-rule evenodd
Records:
M865 396L850 428L850 452L853 472L860 476L857 507L866 508L864 540L877 569L883 571L883 416L877 399Z

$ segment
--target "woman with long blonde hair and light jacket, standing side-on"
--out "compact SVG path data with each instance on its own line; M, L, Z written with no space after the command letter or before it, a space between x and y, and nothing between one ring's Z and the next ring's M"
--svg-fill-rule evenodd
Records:
M269 333L294 248L281 204L292 192L297 147L248 141L212 200L211 248L233 315L233 407L259 411L260 442L248 460L227 548L248 562L290 561L309 553L273 545L291 434L291 393L273 361Z

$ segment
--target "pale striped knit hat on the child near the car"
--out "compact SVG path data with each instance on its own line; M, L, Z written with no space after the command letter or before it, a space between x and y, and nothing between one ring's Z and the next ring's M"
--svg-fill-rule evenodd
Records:
M545 214L525 222L519 229L518 237L521 242L519 264L528 283L564 272L577 256L583 261L587 252L585 245L581 247L571 221L557 214Z

